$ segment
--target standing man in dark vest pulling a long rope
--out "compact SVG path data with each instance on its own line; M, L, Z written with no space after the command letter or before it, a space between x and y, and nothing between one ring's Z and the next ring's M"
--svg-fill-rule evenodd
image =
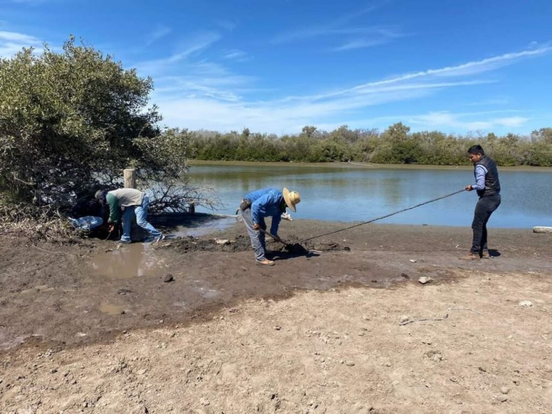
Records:
M465 190L476 190L479 200L475 205L473 222L473 242L470 253L463 259L477 260L480 257L489 259L487 247L487 221L493 211L500 206L500 181L498 170L493 159L487 157L480 145L471 146L468 150L470 161L474 166L475 184L464 187Z

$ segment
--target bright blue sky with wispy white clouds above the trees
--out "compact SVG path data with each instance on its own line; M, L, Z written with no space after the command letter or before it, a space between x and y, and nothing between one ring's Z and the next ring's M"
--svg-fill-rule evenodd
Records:
M0 0L0 55L70 34L150 76L163 125L552 126L552 0Z

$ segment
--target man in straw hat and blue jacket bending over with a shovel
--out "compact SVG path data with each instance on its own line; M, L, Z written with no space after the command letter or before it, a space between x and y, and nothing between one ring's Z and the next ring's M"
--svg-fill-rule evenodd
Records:
M278 227L282 221L282 213L286 213L286 207L293 211L295 204L301 201L301 196L297 191L290 191L284 188L282 191L274 188L263 188L253 191L242 199L239 209L244 216L244 223L247 233L251 239L251 246L255 250L255 262L260 265L273 266L272 260L266 259L266 230L264 217L272 217L270 225L270 234L276 237L277 242L282 242L278 237Z

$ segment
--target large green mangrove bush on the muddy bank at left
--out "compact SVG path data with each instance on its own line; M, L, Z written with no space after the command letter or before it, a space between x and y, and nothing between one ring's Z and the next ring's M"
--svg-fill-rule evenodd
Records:
M151 90L152 79L74 38L61 52L0 59L0 229L33 211L40 222L63 217L79 198L121 185L129 167L157 188L153 209L184 210L198 194L182 186L188 140L161 133Z

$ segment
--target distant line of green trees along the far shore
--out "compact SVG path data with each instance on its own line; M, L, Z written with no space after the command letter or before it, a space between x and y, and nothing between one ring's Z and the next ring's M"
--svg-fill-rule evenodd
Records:
M357 161L375 164L469 164L466 150L481 144L501 166L552 166L552 128L535 130L529 137L514 134L446 135L439 131L410 132L402 123L384 132L351 130L331 132L305 126L298 135L252 133L245 128L221 134L207 130L180 132L188 140L193 159L221 161Z

